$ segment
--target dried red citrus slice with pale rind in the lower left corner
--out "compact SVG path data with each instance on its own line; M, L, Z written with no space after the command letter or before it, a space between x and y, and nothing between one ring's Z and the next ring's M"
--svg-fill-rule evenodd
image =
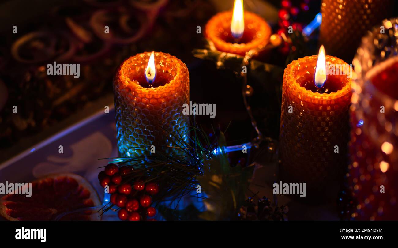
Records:
M60 213L101 204L95 189L79 175L51 174L32 182L31 197L8 194L0 199L0 214L10 221L51 221ZM60 220L100 220L98 213L71 213Z

